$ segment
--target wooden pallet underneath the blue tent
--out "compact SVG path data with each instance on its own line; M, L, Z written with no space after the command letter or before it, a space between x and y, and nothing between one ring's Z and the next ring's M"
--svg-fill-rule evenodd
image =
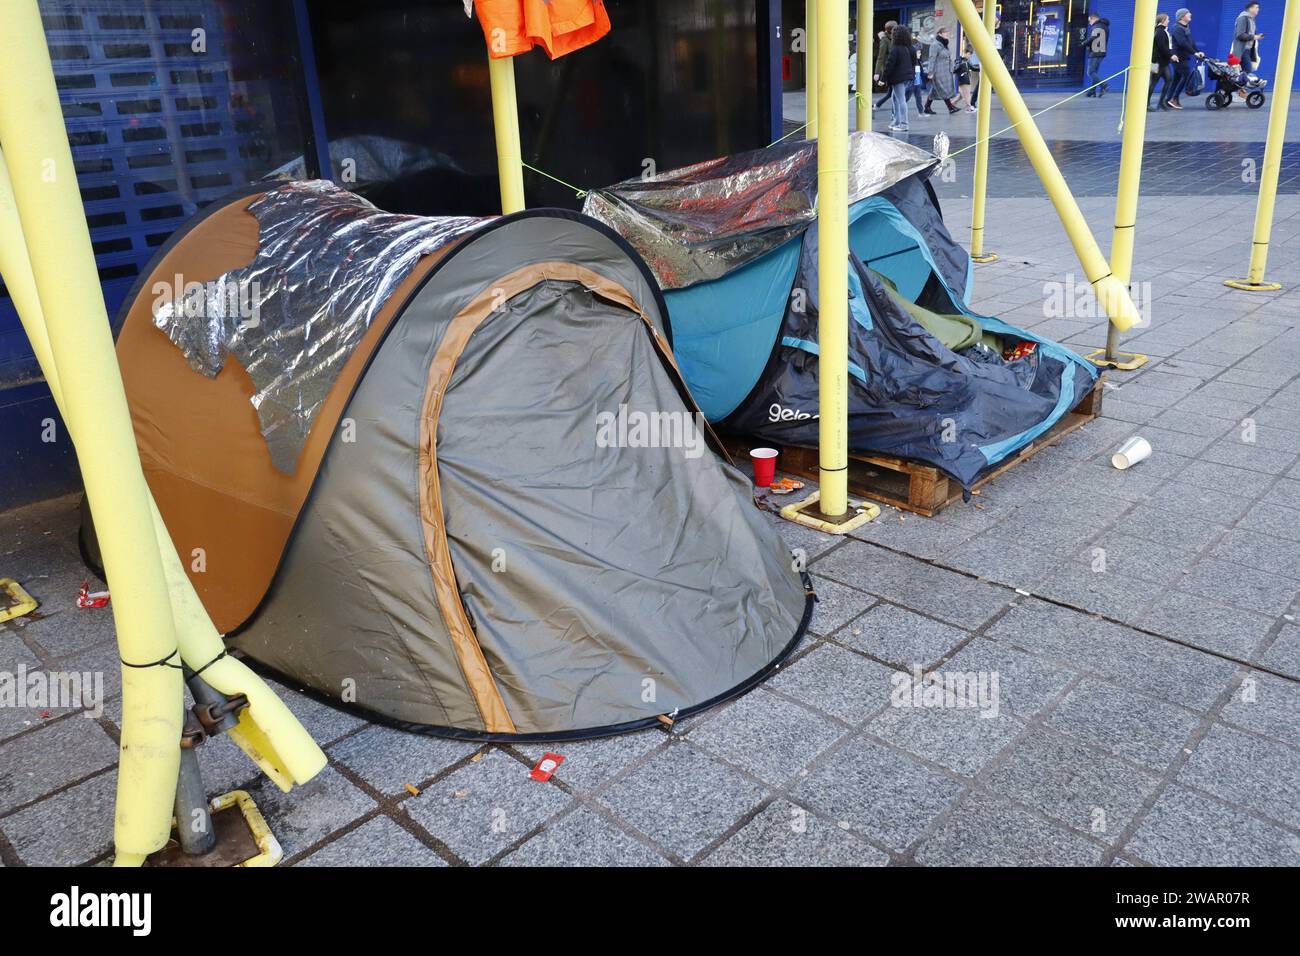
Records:
M1020 449L1019 453L1004 459L993 471L980 477L971 485L971 490L978 494L979 489L1002 472L1034 458L1043 449L1054 445L1070 432L1083 428L1097 418L1101 414L1102 392L1102 382L1098 378L1096 386L1060 421ZM759 442L744 437L728 437L725 441L737 459L748 458L749 450L759 445ZM770 442L767 445L770 446ZM777 459L777 467L781 471L801 477L818 479L818 451L815 447L777 445L776 449L781 453L780 459ZM962 488L932 464L889 455L850 455L849 494L932 518L954 501L961 501Z

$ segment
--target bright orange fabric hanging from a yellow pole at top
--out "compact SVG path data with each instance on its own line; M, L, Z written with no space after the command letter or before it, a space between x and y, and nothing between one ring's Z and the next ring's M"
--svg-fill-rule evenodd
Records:
M494 60L526 53L538 43L551 60L610 33L602 0L474 0Z

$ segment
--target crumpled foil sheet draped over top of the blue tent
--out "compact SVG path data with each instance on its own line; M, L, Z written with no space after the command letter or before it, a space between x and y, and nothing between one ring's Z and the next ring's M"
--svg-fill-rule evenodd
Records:
M939 160L878 133L849 137L849 202ZM788 140L625 179L586 195L582 212L625 238L663 289L719 278L801 233L816 217L816 143Z

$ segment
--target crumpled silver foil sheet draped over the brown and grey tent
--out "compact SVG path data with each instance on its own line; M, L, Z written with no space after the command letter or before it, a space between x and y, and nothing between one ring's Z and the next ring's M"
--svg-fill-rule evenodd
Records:
M421 256L488 219L399 216L332 182L280 186L248 206L254 261L153 311L190 367L214 378L233 355L252 378L261 434L291 475L352 350Z

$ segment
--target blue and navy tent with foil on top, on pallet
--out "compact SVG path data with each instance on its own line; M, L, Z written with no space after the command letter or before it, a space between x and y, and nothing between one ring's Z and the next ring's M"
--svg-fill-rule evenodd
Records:
M1078 405L1096 369L970 308L970 256L944 226L932 155L871 133L850 147L850 449L927 462L968 488ZM618 183L585 212L655 272L708 420L815 445L816 144Z

